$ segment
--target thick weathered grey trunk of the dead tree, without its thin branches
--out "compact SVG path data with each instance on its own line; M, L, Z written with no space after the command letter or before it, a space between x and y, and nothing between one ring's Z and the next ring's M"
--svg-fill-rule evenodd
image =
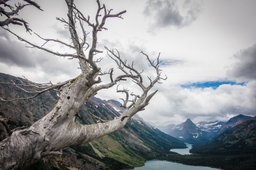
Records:
M75 122L79 108L97 91L95 86L86 87L85 77L82 73L63 89L49 114L30 128L13 132L0 143L0 169L26 169L44 156L59 154L52 151L82 145L125 125L126 121L119 120L92 125Z

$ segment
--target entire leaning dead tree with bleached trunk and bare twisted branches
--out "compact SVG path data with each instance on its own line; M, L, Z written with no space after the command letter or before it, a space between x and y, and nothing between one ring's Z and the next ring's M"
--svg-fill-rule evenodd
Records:
M134 114L145 109L149 104L149 100L157 92L155 91L149 94L149 90L154 86L154 84L162 79L160 77L161 70L159 70L159 56L157 57L156 62L151 62L148 55L141 52L142 55L146 56L146 59L156 71L156 78L149 78L149 86L143 85L141 73L135 70L133 65L126 64L126 60L122 60L118 50L105 47L109 57L111 57L118 65L118 69L123 71L123 75L119 75L116 78L113 77L113 69L110 69L108 73L101 73L100 67L96 64L97 61L93 60L95 54L102 53L97 49L98 31L107 30L104 25L108 18L122 19L121 15L126 11L122 11L117 14L110 14L111 10L107 10L105 5L101 6L99 0L97 0L98 11L95 16L96 23L91 23L90 17L88 16L86 18L74 5L73 1L74 0L66 0L68 6L68 20L57 18L57 20L65 23L68 27L73 43L72 45L59 40L46 39L39 35L37 36L45 40L45 43L54 41L66 45L74 49L75 54L60 54L53 52L43 46L32 44L26 39L19 37L11 30L4 28L14 36L18 37L19 40L25 41L33 48L42 49L57 56L66 56L70 59L78 59L81 66L81 74L74 79L57 84L52 84L51 82L38 84L27 79L24 81L18 79L20 81L18 84L14 82L2 82L9 83L10 86L16 86L28 93L34 94L33 97L19 99L31 99L42 94L42 92L49 90L58 91L60 96L52 111L29 128L13 131L8 130L10 137L0 142L1 169L26 169L45 156L61 154L59 152L61 148L83 145L84 143L88 143L94 139L102 137L103 135L120 130ZM100 12L103 13L101 21L99 20L101 17ZM86 41L87 33L84 30L83 22L87 23L92 28L93 39L90 46ZM77 23L79 24L79 27L82 28L83 38L78 36L76 27ZM84 54L84 50L86 49L89 49L89 55L87 57ZM100 60L101 59L98 61ZM99 84L101 82L99 75L103 74L109 75L109 83ZM143 93L140 95L130 94L133 97L133 99L130 99L129 97L131 96L129 95L128 90L117 89L117 92L124 92L126 94L125 99L122 99L122 107L124 107L125 110L120 117L116 117L114 120L109 121L103 121L97 117L99 119L98 123L90 125L83 125L76 122L76 117L79 116L77 114L79 108L92 96L97 94L97 91L113 87L118 81L123 81L127 78L132 79L134 83L138 84ZM26 87L30 87L31 90L27 90ZM4 99L2 100L6 101ZM4 122L4 120L1 121Z

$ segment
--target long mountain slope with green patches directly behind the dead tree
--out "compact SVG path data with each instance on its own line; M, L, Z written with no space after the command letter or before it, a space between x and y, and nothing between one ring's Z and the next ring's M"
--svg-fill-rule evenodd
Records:
M11 80L18 83L15 77L0 73L0 82ZM29 97L29 94L15 86L0 84L0 97L8 100ZM49 113L57 100L56 92L50 91L31 100L0 101L0 118L8 120L10 129L30 126ZM89 112L102 120L113 120L122 113L120 105L115 100L92 97L81 107L81 117L77 121L82 124L95 123L97 120ZM6 137L6 130L0 123L0 141ZM186 145L134 116L122 130L83 146L62 149L61 156L46 157L30 169L108 169L110 165L114 169L132 168L143 166L149 159L165 160L173 148L186 148Z

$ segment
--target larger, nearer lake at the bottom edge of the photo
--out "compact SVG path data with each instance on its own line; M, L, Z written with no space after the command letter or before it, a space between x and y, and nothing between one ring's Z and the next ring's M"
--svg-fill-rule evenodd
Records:
M191 166L179 163L167 162L163 160L148 160L145 166L135 167L136 170L214 170L216 168L206 166ZM132 169L127 169L132 170Z

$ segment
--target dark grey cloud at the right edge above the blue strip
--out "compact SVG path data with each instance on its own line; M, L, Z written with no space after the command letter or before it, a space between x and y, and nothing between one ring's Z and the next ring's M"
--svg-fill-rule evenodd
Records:
M240 50L234 57L238 62L227 71L228 77L242 81L256 80L256 44Z

